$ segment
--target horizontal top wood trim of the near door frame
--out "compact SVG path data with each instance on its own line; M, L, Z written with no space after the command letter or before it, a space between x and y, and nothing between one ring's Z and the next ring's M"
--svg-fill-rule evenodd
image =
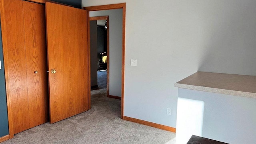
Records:
M120 4L108 4L108 5L102 5L102 6L88 6L84 7L84 10L88 11L98 11L98 10L113 10L113 9L119 9L119 8L124 8L125 3L120 3Z

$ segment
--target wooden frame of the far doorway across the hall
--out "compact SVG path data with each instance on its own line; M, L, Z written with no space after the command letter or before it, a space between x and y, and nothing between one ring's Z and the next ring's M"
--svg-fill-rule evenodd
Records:
M106 20L107 21L107 97L109 97L109 16L94 16L91 20Z

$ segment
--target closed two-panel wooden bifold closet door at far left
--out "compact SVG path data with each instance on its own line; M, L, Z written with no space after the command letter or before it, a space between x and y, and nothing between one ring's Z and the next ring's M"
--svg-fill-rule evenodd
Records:
M22 0L0 0L0 6L12 138L48 121L45 10Z

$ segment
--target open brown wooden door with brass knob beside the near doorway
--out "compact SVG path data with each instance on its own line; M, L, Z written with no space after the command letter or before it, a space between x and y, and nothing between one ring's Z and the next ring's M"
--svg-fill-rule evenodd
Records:
M50 2L45 6L50 123L54 123L88 110L87 13Z

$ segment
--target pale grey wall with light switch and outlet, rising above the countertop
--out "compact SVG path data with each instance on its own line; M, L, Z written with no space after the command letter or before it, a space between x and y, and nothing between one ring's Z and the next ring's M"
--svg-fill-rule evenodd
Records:
M256 0L82 0L82 6L122 2L125 116L176 127L175 82L198 70L256 75Z

